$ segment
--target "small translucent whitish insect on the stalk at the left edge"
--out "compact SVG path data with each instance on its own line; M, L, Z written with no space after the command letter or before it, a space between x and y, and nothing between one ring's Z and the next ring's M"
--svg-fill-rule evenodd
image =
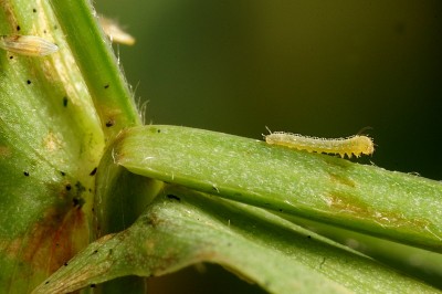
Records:
M45 56L59 50L59 46L36 35L1 35L0 48L28 56Z

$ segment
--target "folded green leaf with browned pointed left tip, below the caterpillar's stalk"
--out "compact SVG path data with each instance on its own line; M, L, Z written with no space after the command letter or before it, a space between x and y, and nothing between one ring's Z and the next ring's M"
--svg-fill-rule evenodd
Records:
M92 243L34 293L162 275L202 261L272 293L436 292L265 210L167 187L134 225Z

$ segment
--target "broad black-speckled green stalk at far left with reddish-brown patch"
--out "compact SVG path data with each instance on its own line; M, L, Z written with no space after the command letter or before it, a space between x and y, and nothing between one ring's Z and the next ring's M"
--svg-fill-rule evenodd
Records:
M0 288L29 293L91 242L104 134L82 73L46 1L1 1L2 34L60 50L0 51Z

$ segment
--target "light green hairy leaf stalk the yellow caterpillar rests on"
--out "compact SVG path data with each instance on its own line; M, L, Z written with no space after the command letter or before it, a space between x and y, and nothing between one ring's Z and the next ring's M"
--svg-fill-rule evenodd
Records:
M442 251L438 181L176 126L128 129L113 155L137 175Z

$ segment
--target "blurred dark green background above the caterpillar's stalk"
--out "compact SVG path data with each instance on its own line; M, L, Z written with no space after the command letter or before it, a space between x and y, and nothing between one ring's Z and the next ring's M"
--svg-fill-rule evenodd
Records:
M441 1L95 6L137 39L115 48L149 101L146 123L256 139L265 126L320 137L369 126L378 146L361 162L442 179Z

